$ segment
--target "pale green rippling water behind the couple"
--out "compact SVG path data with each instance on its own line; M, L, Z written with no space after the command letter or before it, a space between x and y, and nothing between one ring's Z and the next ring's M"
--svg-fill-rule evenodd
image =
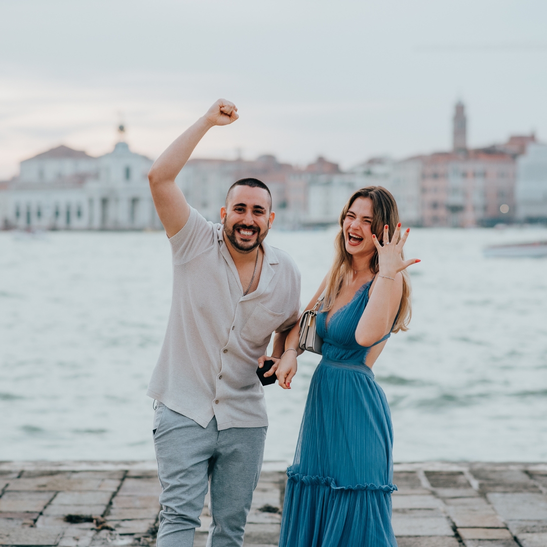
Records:
M302 272L302 302L335 231L271 232ZM413 316L374 365L395 461L547 459L545 259L486 259L541 228L414 229ZM0 459L150 459L144 395L171 296L164 234L0 232ZM293 389L266 387L266 459L290 461L318 356Z

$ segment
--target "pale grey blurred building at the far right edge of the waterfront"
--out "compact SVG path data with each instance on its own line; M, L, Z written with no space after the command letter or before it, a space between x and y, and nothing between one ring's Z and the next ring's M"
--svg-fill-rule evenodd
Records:
M517 159L516 216L523 222L547 222L547 145L529 143Z

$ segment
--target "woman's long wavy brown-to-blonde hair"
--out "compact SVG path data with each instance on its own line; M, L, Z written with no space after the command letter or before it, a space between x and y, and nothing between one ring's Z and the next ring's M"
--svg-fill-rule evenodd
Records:
M383 242L383 227L386 224L389 226L389 239L391 240L395 227L399 223L397 203L385 188L381 186L368 186L357 190L350 197L350 200L346 203L340 214L339 223L342 229L338 232L334 240L334 260L327 277L327 292L325 293L323 311L328 311L333 307L336 296L340 294L345 281L350 278L353 271L351 254L346 251L343 226L348 210L359 197L368 197L373 202L373 218L370 223L370 230L376 235L378 241ZM369 266L370 271L376 275L379 271L378 252L376 250L370 259ZM401 271L401 274L403 274L403 295L401 296L395 324L391 330L392 333L397 333L399 330L408 330L412 315L410 305L410 276L406 270Z

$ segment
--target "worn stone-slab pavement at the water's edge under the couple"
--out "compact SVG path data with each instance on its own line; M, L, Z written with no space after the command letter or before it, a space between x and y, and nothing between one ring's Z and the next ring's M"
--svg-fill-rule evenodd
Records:
M277 545L281 468L264 465L246 547ZM394 482L399 547L547 547L547 464L395 464ZM159 492L155 462L0 462L0 545L154 546ZM195 547L210 520L206 500Z

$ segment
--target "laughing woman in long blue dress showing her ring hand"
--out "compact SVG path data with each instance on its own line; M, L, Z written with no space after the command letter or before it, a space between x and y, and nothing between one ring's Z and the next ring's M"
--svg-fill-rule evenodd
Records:
M323 358L313 375L283 507L280 547L394 547L393 430L371 370L391 333L407 330L410 283L397 204L382 187L354 193L340 216L333 266L306 309L317 315ZM383 242L380 245L379 240ZM326 289L326 290L325 290ZM277 364L296 372L299 325Z

